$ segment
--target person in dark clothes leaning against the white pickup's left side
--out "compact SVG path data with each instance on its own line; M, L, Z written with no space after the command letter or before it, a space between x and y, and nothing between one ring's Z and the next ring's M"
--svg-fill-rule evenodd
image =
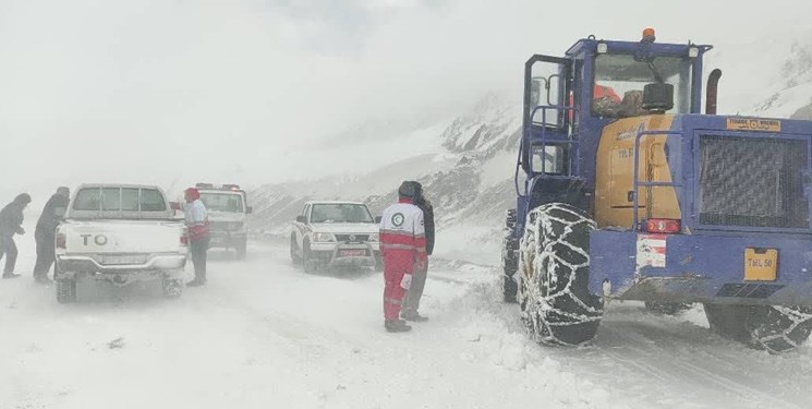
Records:
M70 189L60 187L57 189L48 203L43 208L43 214L37 220L37 229L34 239L37 241L37 263L34 265L34 280L37 282L49 282L48 272L56 260L57 226L62 221L64 209L71 195ZM62 212L59 212L59 210Z

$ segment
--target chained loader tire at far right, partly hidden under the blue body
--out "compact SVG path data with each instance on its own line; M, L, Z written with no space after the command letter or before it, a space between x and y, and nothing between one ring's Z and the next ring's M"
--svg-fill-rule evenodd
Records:
M812 333L812 308L704 304L711 329L771 353L791 351Z

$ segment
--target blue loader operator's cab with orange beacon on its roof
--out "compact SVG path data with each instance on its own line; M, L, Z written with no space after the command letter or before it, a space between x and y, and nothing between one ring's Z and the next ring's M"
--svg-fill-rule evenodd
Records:
M590 36L563 58L531 57L520 158L525 175L575 178L594 188L595 152L606 124L651 113L701 113L702 58L711 48L656 43L646 29L641 41Z

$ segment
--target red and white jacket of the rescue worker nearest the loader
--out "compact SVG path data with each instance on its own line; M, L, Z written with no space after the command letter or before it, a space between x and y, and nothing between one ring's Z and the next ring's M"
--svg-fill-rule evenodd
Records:
M415 263L424 263L426 236L423 210L408 199L401 199L384 210L380 219L380 255L385 269L411 274Z

